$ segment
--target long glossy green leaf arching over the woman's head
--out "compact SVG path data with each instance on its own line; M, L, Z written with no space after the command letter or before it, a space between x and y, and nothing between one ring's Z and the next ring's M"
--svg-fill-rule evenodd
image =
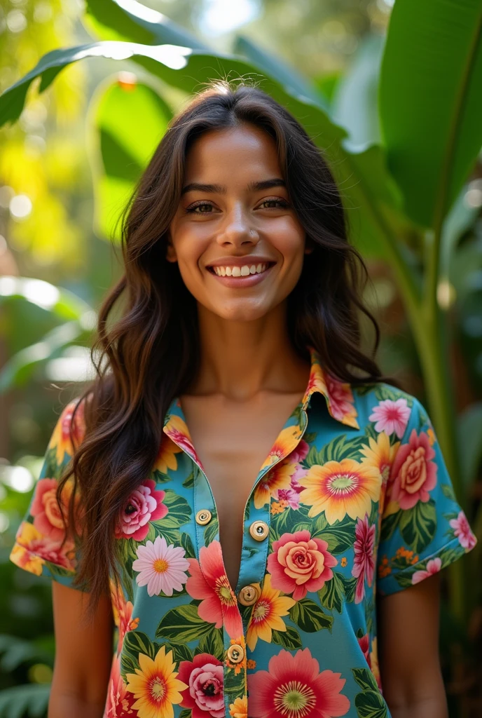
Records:
M85 57L110 57L116 60L133 60L148 72L161 78L186 93L194 93L204 83L216 78L254 78L261 89L281 103L303 124L313 141L323 149L323 153L331 162L341 196L348 210L348 218L354 227L354 241L365 247L367 243L372 256L387 256L398 279L408 284L403 273L400 247L395 240L402 229L387 223L397 218L397 207L379 208L377 194L379 187L393 185L389 174L385 172L372 185L366 185L359 179L358 168L364 168L369 176L369 164L381 149L369 149L368 154L360 153L359 148L352 149L346 139L346 131L331 121L329 116L308 98L290 93L276 80L265 78L248 62L233 55L208 55L198 50L190 50L173 45L138 45L129 42L96 42L68 50L54 50L47 53L34 69L6 90L0 97L0 126L8 120L19 117L24 106L27 89L34 78L42 76L40 91L48 87L63 67ZM369 159L369 162L367 161ZM376 162L383 167L383 161ZM392 190L385 192L386 201L393 195ZM400 223L399 223L400 224ZM360 234L363 232L363 237Z

